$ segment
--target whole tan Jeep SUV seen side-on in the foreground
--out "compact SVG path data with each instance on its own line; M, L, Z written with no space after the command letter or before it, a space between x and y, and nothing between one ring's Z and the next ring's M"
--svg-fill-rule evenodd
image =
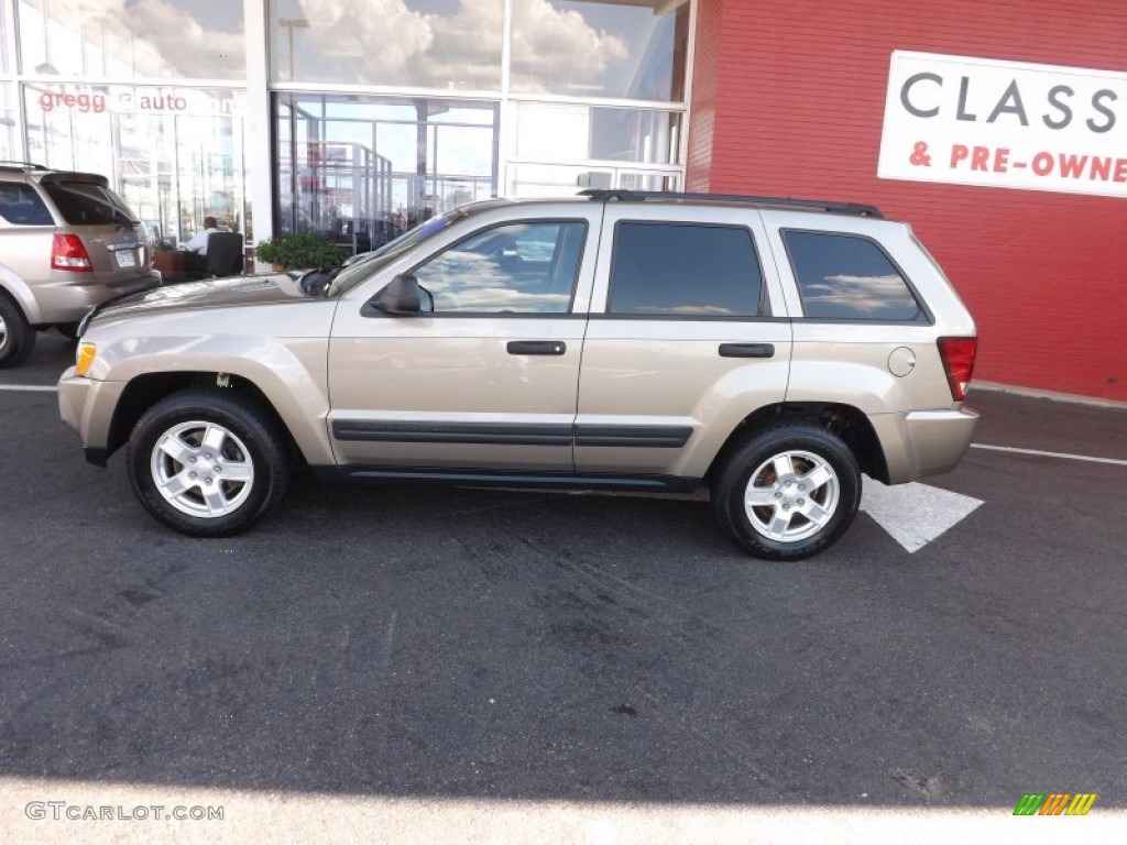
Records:
M711 490L744 549L798 559L861 473L950 470L975 324L870 206L587 192L436 217L330 276L161 288L96 311L59 382L89 461L240 532L293 459L350 479Z

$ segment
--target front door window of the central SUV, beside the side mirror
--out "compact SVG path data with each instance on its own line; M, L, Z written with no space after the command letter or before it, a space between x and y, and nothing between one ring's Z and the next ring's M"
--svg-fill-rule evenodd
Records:
M567 313L586 223L509 223L477 232L415 269L435 313Z

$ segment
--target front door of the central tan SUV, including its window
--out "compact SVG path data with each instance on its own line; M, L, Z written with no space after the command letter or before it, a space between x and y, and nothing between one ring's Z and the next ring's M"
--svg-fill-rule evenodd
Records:
M601 207L526 211L460 221L338 305L329 434L339 464L362 474L571 471L587 243ZM417 281L425 311L375 308L399 274Z

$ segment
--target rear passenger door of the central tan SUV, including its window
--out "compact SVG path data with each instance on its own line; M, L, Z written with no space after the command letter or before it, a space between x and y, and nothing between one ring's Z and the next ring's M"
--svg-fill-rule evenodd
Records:
M610 203L576 418L576 471L701 478L782 401L791 354L757 210Z

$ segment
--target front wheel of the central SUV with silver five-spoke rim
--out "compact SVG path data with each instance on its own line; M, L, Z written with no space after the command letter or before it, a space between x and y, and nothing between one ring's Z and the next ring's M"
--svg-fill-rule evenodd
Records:
M174 393L147 410L133 427L126 465L144 508L195 537L246 531L290 483L285 439L269 415L254 401L208 390Z

